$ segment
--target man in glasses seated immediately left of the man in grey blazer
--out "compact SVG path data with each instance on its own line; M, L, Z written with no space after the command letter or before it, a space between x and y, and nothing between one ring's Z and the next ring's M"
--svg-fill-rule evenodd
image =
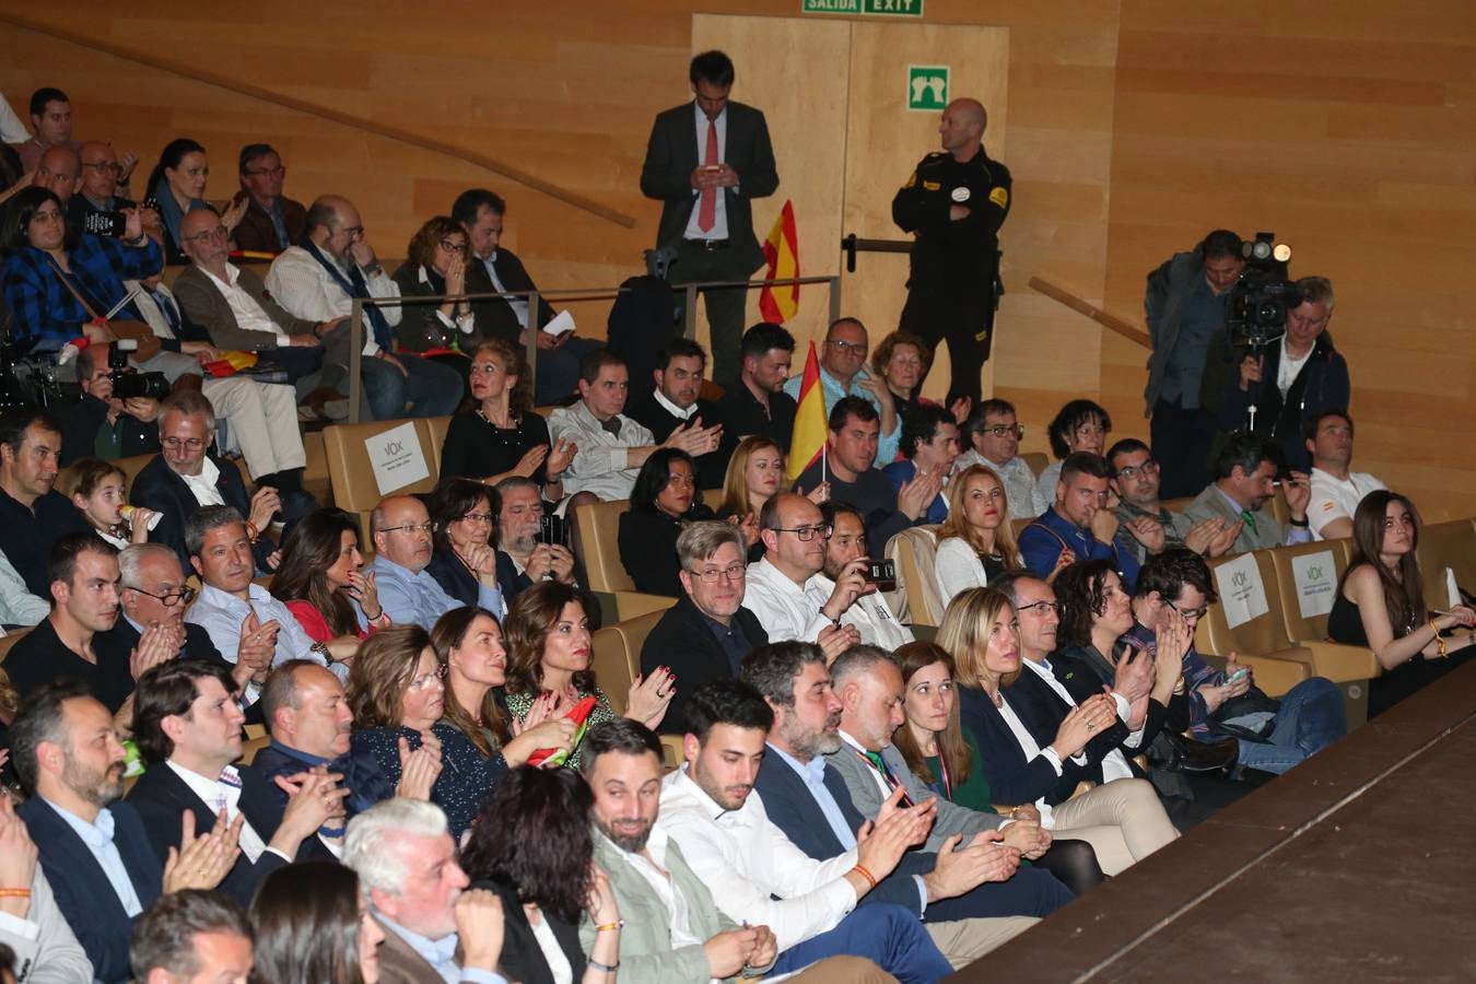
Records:
M1117 493L1113 513L1132 534L1128 544L1139 564L1166 547L1187 546L1196 553L1219 556L1240 536L1240 524L1227 524L1222 516L1194 524L1182 512L1166 509L1159 502L1159 463L1138 438L1128 437L1113 444L1107 450L1107 463L1111 466L1111 490Z

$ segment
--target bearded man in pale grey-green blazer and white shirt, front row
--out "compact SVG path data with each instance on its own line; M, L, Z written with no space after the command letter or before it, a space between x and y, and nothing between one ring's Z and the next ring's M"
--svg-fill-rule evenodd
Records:
M580 769L593 792L595 863L610 876L624 913L620 963L630 980L726 980L778 969L769 926L738 925L719 912L682 851L655 826L661 808L661 742L655 732L624 717L607 721L584 736ZM663 913L666 925L641 919L651 912ZM580 924L586 952L598 932L592 921ZM791 980L855 984L894 978L866 960L831 957Z

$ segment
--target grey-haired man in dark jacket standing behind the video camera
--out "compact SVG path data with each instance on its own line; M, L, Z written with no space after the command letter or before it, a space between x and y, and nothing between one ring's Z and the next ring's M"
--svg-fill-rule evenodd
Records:
M1221 434L1240 431L1271 441L1281 448L1287 468L1306 472L1312 457L1303 428L1324 410L1346 407L1351 385L1348 361L1327 332L1333 319L1331 282L1302 277L1296 289L1302 302L1287 311L1280 341L1259 348L1235 345L1224 329L1210 339L1200 401L1218 409Z

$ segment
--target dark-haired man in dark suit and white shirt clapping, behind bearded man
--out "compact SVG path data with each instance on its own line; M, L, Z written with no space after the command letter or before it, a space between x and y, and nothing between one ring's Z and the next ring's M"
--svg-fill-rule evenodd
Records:
M180 848L174 823L195 814L196 829L208 829L221 813L239 823L241 857L220 890L242 904L251 901L261 881L298 860L304 841L329 817L342 816L347 789L326 769L280 779L291 789L282 807L266 782L241 760L241 724L245 716L232 690L230 674L201 659L180 659L145 673L134 698L134 739L148 772L128 791L128 803L143 817L159 859ZM326 859L319 848L301 860Z

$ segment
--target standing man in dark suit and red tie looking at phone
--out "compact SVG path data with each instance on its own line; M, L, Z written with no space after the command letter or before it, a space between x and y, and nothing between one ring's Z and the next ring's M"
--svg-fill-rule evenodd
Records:
M732 59L703 52L689 71L695 99L657 115L641 168L641 193L661 205L657 246L676 251L672 283L747 280L763 266L750 201L779 187L769 127L753 106L729 102ZM713 338L713 381L738 382L741 289L703 291Z

